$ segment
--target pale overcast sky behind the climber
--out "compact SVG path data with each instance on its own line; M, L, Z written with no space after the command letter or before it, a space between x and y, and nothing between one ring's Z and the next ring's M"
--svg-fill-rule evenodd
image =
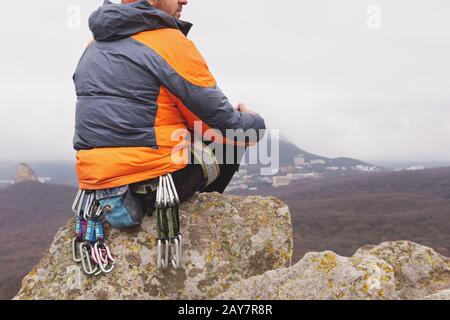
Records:
M0 159L74 159L72 74L101 3L2 3ZM190 0L182 19L231 102L300 148L430 161L450 160L449 17L448 0Z

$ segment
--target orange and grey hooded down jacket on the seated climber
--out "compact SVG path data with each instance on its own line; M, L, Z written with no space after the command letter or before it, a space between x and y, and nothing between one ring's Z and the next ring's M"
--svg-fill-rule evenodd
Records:
M265 129L235 110L187 38L191 24L143 0L105 2L89 18L94 41L73 80L77 94L74 149L81 189L107 189L175 172L173 133ZM188 130L188 131L187 131Z

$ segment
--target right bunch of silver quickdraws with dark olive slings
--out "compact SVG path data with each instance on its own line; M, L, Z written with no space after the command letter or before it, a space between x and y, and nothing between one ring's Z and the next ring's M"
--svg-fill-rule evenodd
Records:
M180 199L171 174L159 177L156 190L155 217L158 243L156 259L158 268L167 268L169 258L175 269L181 265L182 237L180 233ZM170 257L169 257L170 252Z

